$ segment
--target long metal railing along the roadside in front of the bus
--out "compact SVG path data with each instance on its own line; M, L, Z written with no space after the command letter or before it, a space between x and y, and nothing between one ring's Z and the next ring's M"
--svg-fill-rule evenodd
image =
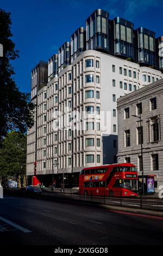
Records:
M39 197L47 199L62 199L62 200L76 200L91 202L105 205L115 205L135 209L147 209L163 211L163 199L159 198L159 193L147 194L146 196L139 195L137 197L101 197L101 196L81 196L78 190L65 189L64 192L60 190L51 192L42 190L39 192L29 192L26 189L20 188L4 188L4 194L24 196L24 197Z

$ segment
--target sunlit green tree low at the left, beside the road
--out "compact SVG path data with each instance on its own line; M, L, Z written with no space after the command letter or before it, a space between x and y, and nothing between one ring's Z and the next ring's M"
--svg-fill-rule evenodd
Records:
M0 148L0 180L20 181L26 175L27 135L11 131L3 139Z

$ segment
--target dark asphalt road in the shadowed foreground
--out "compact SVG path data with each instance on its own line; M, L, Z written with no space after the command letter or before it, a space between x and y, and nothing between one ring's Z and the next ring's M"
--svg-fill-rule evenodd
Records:
M0 199L1 245L163 245L163 218L55 201Z

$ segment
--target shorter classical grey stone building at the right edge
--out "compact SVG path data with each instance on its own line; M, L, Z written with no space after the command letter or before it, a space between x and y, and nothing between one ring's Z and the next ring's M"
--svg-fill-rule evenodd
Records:
M142 129L144 175L163 185L163 79L118 99L117 112L118 162L135 164L141 175Z

